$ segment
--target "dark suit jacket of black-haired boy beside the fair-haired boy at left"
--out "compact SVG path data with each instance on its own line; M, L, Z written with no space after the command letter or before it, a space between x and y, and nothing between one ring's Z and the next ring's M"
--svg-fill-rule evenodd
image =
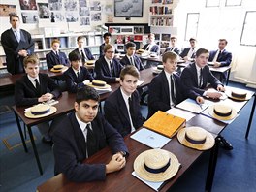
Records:
M91 73L85 67L80 67L79 77L75 74L72 67L70 67L66 72L64 72L64 78L67 85L67 90L71 93L76 93L78 88L83 87L84 80L94 80Z

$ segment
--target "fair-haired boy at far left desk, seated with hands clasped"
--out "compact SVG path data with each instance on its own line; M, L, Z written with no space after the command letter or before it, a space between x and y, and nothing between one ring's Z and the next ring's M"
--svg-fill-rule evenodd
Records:
M58 98L61 92L58 86L51 80L47 74L39 73L39 59L36 55L30 55L24 59L24 68L26 75L20 80L16 80L15 102L16 106L31 107L41 102L47 102L50 99ZM48 122L38 124L40 133L43 135L44 143L51 143L49 130L53 130L58 120L53 120L51 125Z

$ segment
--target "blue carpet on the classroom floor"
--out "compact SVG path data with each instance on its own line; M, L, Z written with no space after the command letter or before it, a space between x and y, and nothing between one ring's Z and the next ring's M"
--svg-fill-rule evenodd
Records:
M245 88L244 85L231 83L236 87ZM251 89L252 90L252 89ZM255 91L255 90L254 90ZM1 97L1 105L14 105L13 96ZM219 150L219 157L214 176L212 191L255 191L256 189L256 116L248 140L245 140L250 101L240 112L240 116L229 125L222 135L234 146L232 151ZM144 117L147 107L142 106ZM28 153L23 146L8 150L3 142L0 143L0 191L28 192L35 191L36 187L53 176L54 159L51 147L41 142L41 136L36 127L32 128L37 137L36 145L44 170L43 176L39 174L31 144L27 144ZM5 112L0 115L0 140L17 132L15 115ZM19 141L20 142L20 141ZM170 191L198 192L205 190L208 172L209 152L204 153L194 165L176 182Z

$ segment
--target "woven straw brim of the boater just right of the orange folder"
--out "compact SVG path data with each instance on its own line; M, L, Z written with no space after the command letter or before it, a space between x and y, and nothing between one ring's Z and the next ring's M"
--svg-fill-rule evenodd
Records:
M194 148L197 150L208 150L214 146L215 140L214 140L213 136L208 131L207 131L206 142L204 144L192 144L192 143L188 142L185 138L186 131L188 129L193 129L193 128L195 128L195 127L182 128L177 132L176 137L180 144L183 144L189 148Z

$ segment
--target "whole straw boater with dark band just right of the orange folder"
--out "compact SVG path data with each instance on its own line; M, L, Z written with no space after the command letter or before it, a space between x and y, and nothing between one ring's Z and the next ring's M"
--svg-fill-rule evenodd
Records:
M187 127L177 133L180 144L197 150L208 150L215 144L213 136L203 128Z

